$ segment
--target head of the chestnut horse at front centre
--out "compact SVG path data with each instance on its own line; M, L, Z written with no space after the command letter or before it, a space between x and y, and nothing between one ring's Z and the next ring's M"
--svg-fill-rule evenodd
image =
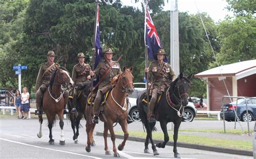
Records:
M120 75L118 82L123 92L132 94L132 92L134 91L132 67L129 69L126 69L126 67L123 68L123 73Z

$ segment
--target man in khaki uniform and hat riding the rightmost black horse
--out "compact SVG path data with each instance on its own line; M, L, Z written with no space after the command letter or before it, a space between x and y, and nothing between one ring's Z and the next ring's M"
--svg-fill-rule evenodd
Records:
M147 114L149 122L156 122L153 111L158 93L163 93L166 86L169 86L175 76L170 64L164 62L164 57L166 55L165 50L158 49L156 54L157 61L151 62L149 68L145 68L145 73L149 73L149 82L152 82L150 89L152 98L149 104L150 114Z

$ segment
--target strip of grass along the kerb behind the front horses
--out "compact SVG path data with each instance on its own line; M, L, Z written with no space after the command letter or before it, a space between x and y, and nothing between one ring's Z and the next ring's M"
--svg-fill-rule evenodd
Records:
M123 135L122 131L116 131L116 134ZM164 140L164 134L160 132L153 132L153 139L156 140ZM146 138L145 132L139 131L129 131L129 136ZM173 141L172 134L169 134L170 141ZM241 140L226 140L226 139L214 139L207 138L196 135L183 135L179 134L178 142L185 143L195 143L207 146L217 146L217 147L225 147L225 148L235 148L235 149L244 149L244 150L252 150L252 142L249 141L241 141Z

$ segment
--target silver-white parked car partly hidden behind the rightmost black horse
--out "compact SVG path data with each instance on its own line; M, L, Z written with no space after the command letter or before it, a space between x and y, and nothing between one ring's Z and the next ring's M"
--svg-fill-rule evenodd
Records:
M134 83L134 85L142 84L145 86L145 83ZM137 97L144 91L146 88L136 88L134 87L134 92L129 96L129 117L127 122L130 124L133 121L140 121L139 110L137 108L136 100ZM188 102L188 104L184 107L183 119L182 121L191 122L196 117L197 109L193 103Z

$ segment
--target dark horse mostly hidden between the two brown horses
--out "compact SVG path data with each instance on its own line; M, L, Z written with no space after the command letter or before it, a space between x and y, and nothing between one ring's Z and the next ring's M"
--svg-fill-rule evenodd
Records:
M78 143L78 135L79 135L79 127L80 126L80 120L84 117L86 120L86 115L85 115L85 107L86 107L86 102L87 102L87 97L89 93L91 92L90 88L92 86L91 81L86 81L83 83L79 91L78 99L77 99L77 113L71 113L71 110L73 108L72 106L72 97L69 98L69 104L68 104L68 109L69 109L69 119L71 121L71 127L73 129L73 141L75 143ZM92 145L93 146L93 145Z

